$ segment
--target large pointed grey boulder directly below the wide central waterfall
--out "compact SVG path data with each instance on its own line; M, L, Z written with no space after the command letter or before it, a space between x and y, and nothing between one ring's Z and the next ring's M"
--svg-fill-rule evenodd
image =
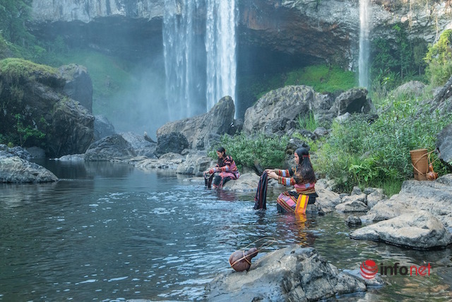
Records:
M186 137L190 149L206 149L210 134L222 135L230 131L234 112L234 101L230 96L225 96L203 115L164 124L157 129L157 142L161 137L176 132Z

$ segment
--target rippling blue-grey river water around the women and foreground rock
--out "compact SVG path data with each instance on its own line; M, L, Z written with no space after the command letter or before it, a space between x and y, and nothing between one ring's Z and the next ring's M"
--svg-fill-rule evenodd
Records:
M347 215L266 213L254 193L121 163L45 161L60 181L0 184L0 301L203 301L204 286L232 272L232 252L270 236L254 258L311 246L339 269L364 260L427 265L429 276L382 276L386 286L330 301L452 301L451 248L418 251L352 240Z

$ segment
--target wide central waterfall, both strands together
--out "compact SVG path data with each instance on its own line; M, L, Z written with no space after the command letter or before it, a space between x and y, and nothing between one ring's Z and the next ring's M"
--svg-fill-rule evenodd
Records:
M169 120L235 100L235 0L165 0L163 54Z

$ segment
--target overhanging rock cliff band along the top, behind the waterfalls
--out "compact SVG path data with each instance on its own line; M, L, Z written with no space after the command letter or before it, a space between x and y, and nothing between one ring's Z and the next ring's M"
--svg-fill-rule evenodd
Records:
M393 25L408 28L410 38L434 42L452 28L452 1L369 0L371 39L395 38ZM162 0L34 0L36 35L64 33L73 43L137 56L162 52ZM359 1L239 1L238 44L272 52L356 66Z

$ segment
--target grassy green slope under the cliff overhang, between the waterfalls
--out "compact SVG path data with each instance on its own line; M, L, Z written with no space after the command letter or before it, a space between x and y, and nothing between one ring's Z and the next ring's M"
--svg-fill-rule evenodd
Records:
M287 74L285 86L306 85L318 92L345 91L357 86L353 71L346 71L338 66L316 65L291 71Z

